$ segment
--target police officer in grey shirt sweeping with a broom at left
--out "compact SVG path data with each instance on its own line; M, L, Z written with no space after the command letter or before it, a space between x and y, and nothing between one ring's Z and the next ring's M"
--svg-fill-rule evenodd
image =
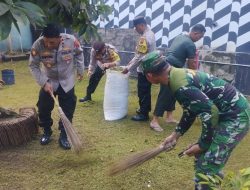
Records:
M84 64L80 43L74 36L60 34L59 31L55 24L48 24L43 29L43 36L34 42L29 59L31 73L41 86L37 103L39 125L44 130L40 139L41 145L48 144L52 135L51 111L54 101L51 94L58 96L63 112L72 122L76 107L75 70L79 80L83 77ZM43 69L40 68L40 64L43 65ZM59 145L63 149L70 149L61 121L59 130Z

